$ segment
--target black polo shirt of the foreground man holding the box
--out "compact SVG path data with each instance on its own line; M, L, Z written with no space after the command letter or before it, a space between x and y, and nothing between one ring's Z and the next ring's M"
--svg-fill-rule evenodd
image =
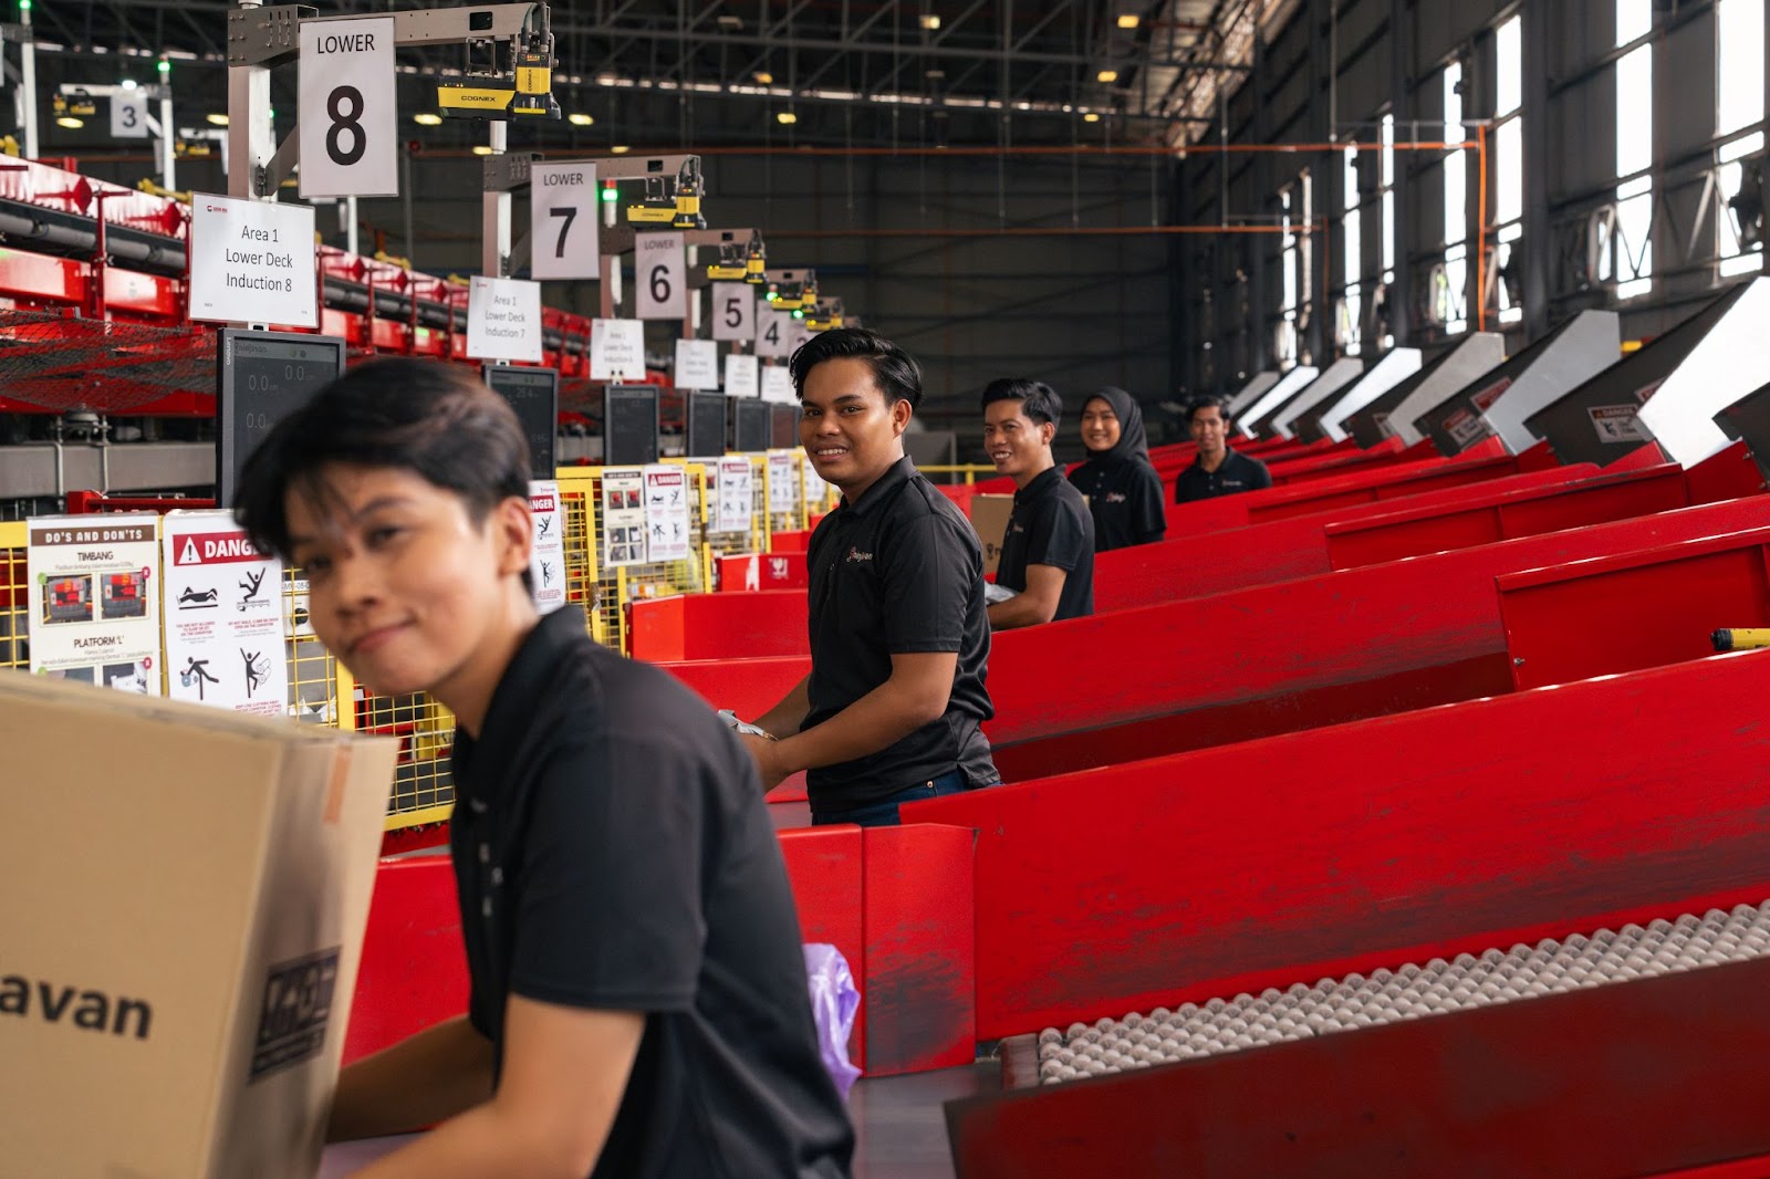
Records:
M706 705L566 607L453 768L467 1014L499 1064L510 995L646 1016L593 1175L848 1175L781 846Z

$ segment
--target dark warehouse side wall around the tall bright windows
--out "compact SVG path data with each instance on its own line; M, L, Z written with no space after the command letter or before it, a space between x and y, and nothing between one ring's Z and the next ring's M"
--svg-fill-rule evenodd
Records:
M1504 329L1508 349L1584 306L1618 306L1625 336L1650 336L1728 281L1742 281L1717 278L1717 207L1706 211L1701 228L1696 225L1715 161L1715 14L1713 4L1703 0L1653 5L1653 126L1641 133L1651 136L1655 161L1655 281L1650 294L1618 303L1607 285L1588 281L1582 266L1588 220L1614 200L1616 189L1614 7L1611 0L1342 0L1333 11L1331 0L1308 0L1260 48L1250 78L1225 104L1225 126L1207 142L1308 143L1329 133L1375 142L1384 113L1397 117L1398 140L1414 138L1416 124L1420 140L1439 140L1444 64L1464 62L1466 119L1490 113L1492 32L1522 12L1526 237L1517 250L1524 255L1528 297L1524 322ZM1542 81L1533 85L1535 78ZM1280 189L1304 170L1313 179L1315 214L1331 216L1328 241L1310 243L1317 299L1299 333L1301 352L1320 363L1335 354L1331 299L1349 280L1361 280L1368 292L1381 278L1381 205L1374 193L1361 202L1359 273L1347 274L1343 266L1338 220L1345 195L1336 156L1193 154L1177 182L1175 221L1271 225ZM1471 154L1471 243L1476 175ZM1427 322L1425 299L1430 271L1444 253L1443 216L1443 152L1398 152L1398 273L1389 294L1400 343L1430 349L1448 338ZM1320 297L1324 281L1328 299ZM1278 292L1276 235L1225 235L1184 250L1174 292L1177 381L1235 388L1246 375L1273 366ZM1473 320L1473 260L1466 296ZM1497 328L1492 315L1489 328Z

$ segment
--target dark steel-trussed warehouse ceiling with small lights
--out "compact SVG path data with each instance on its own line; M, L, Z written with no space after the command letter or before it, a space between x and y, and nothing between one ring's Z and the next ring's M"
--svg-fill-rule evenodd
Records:
M1251 57L1255 21L1296 0L561 0L554 94L589 117L529 127L512 145L890 147L1179 143L1216 117ZM181 126L227 110L221 0L39 0L39 76L152 80L168 53ZM386 12L333 0L320 14ZM457 5L444 5L457 7ZM9 50L9 60L16 58ZM434 110L458 50L402 50L402 115ZM294 71L274 81L292 124ZM782 119L786 115L786 119ZM44 149L104 140L50 126ZM427 147L483 142L473 124L419 127Z

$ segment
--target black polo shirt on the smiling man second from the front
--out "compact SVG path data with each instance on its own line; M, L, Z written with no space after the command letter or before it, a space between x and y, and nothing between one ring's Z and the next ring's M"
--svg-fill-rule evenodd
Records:
M890 678L890 657L954 651L947 712L880 752L811 770L811 809L846 811L963 770L1002 781L982 722L995 715L984 676L989 618L984 552L959 508L901 458L858 501L823 517L807 547L811 713L823 724Z

